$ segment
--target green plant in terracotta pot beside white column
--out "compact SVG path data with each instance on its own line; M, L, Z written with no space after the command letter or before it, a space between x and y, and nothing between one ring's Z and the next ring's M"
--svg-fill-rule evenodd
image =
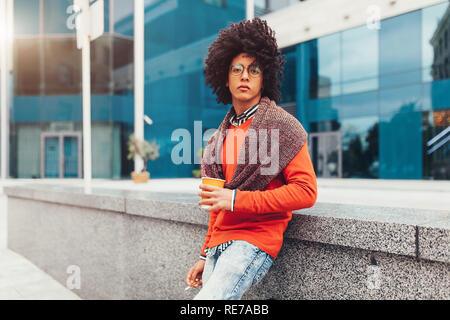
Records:
M138 140L134 134L130 135L130 140L128 141L128 160L134 159L138 156L142 159L144 166L141 172L131 172L131 178L136 183L147 182L150 178L150 172L147 171L148 160L155 160L159 158L159 145L155 142L148 142L145 140Z

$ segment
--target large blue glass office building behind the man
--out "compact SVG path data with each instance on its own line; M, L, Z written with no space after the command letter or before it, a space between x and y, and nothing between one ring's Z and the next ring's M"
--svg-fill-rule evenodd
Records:
M314 0L312 0L314 1ZM159 145L154 178L192 177L194 123L217 128L231 106L206 87L203 62L245 1L145 1L145 138ZM285 1L283 6L292 5ZM14 1L10 175L82 177L81 52L70 0ZM134 127L133 2L105 0L91 43L92 175L129 178ZM276 10L255 1L255 15ZM280 105L310 138L319 177L450 179L449 2L282 48ZM191 133L175 163L174 130ZM186 152L186 150L184 150Z

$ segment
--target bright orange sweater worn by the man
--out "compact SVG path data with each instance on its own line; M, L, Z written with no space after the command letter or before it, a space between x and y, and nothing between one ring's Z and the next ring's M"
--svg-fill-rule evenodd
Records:
M239 150L252 119L239 127L229 127L221 154L226 182L233 177ZM316 175L305 142L282 174L264 191L237 190L233 212L216 210L210 213L201 255L205 255L207 247L229 240L245 240L276 258L283 244L283 233L292 218L292 210L312 207L316 198Z

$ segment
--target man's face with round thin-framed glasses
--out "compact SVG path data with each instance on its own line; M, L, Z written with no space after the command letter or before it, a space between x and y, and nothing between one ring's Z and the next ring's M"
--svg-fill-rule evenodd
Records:
M228 71L228 82L231 96L240 102L258 103L261 98L263 74L259 66L255 64L255 58L246 53L237 55L231 61Z

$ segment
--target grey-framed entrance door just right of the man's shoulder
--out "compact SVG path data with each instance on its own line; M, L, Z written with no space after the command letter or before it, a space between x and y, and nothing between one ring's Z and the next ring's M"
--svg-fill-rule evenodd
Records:
M309 154L318 178L342 178L342 134L340 131L309 134Z

